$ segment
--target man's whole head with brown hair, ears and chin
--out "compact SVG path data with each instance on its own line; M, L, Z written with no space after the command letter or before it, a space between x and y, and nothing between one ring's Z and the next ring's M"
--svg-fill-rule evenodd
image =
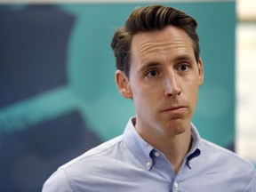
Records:
M137 9L113 38L116 84L133 100L136 130L149 141L156 135L187 131L204 81L196 20L163 6ZM154 139L155 138L155 139Z

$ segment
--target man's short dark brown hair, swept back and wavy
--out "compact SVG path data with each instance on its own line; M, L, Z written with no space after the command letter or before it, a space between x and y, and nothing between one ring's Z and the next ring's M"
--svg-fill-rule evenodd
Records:
M167 26L181 28L187 33L198 62L200 48L196 20L172 7L149 5L133 10L124 27L116 30L111 43L116 57L116 68L124 71L125 76L129 78L132 37L140 32L161 30Z

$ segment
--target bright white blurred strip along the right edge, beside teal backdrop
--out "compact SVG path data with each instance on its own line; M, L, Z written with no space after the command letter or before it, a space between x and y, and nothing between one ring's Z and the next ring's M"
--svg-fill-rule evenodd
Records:
M236 1L236 152L256 164L256 1Z

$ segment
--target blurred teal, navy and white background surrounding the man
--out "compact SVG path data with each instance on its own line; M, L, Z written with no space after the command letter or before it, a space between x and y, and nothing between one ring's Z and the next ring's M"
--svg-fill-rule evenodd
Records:
M152 1L0 0L0 191L41 191L61 164L124 131L116 28ZM160 4L157 2L157 4ZM205 79L193 123L256 163L254 0L169 0L199 23Z

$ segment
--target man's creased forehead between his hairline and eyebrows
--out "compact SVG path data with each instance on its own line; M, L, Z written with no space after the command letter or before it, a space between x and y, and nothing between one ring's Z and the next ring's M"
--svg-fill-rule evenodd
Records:
M194 55L193 44L187 33L177 27L168 26L162 30L141 32L132 38L132 58L148 58L173 53L187 52Z

